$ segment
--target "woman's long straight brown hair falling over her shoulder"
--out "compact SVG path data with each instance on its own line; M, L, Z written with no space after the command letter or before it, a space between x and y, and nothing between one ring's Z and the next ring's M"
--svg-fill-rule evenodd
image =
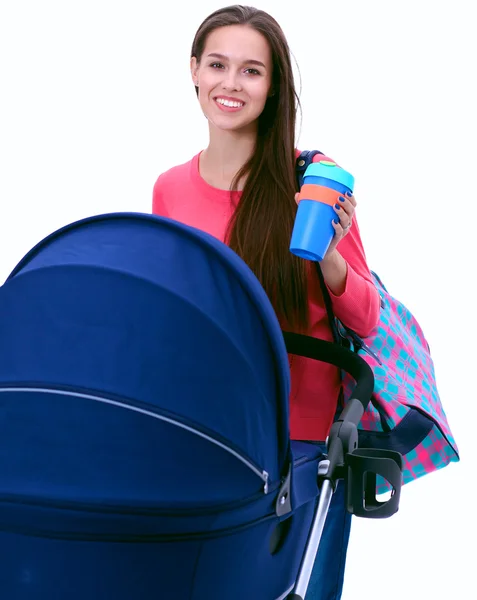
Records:
M297 208L295 126L299 106L290 50L273 17L253 7L234 5L213 12L203 21L195 35L191 57L200 62L208 35L229 25L252 27L268 41L274 93L259 117L254 153L232 182L231 191L245 178L229 223L227 242L259 279L282 326L306 330L307 263L289 250Z

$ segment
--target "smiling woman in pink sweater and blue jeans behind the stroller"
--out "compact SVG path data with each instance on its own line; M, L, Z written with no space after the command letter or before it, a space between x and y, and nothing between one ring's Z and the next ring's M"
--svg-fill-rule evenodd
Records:
M290 52L278 23L251 7L230 6L199 27L191 75L208 120L209 144L160 175L153 213L226 242L255 272L283 329L332 340L314 265L289 251L298 200L295 124L298 98ZM352 195L340 197L335 236L321 262L333 310L362 336L378 321ZM290 357L290 433L324 443L337 410L338 369ZM333 496L307 599L341 597L350 515L342 488Z

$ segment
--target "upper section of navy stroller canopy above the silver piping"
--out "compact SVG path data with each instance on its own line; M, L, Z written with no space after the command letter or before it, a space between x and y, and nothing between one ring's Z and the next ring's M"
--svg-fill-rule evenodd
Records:
M96 394L162 419L164 431L181 428L187 443L206 438L263 485L280 477L288 448L286 350L261 286L220 242L158 217L90 218L24 258L1 308L10 316L1 322L4 348L8 340L2 382ZM82 403L92 411L83 425L99 417L96 404ZM124 408L115 414L130 418ZM137 424L152 421L138 417ZM157 503L153 488L163 482L149 458L154 478L143 484ZM174 500L187 503L187 496Z

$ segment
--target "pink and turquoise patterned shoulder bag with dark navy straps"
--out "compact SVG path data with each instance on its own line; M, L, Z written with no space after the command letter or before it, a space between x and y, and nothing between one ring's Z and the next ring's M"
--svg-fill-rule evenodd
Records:
M315 154L322 153L305 150L297 159L299 187ZM459 461L437 391L429 344L414 315L372 273L381 296L381 313L374 331L362 339L334 316L320 265L315 264L335 342L357 352L374 373L374 392L359 425L359 447L399 452L403 484ZM345 403L354 385L343 373ZM377 493L389 489L389 483L378 477Z

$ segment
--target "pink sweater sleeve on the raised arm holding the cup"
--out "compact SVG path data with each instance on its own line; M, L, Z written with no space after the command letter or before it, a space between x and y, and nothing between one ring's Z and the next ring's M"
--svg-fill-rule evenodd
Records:
M344 325L365 337L378 323L380 298L366 262L356 214L337 251L345 259L348 270L342 294L336 296L328 288L333 312Z

